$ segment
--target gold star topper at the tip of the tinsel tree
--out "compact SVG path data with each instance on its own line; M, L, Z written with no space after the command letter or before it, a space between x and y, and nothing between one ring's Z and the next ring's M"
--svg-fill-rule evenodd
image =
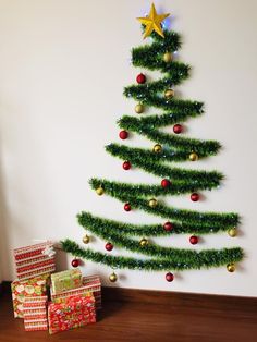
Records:
M148 37L152 30L155 30L158 35L160 35L162 38L164 38L162 28L161 28L161 22L169 16L170 13L166 14L157 14L155 4L151 3L150 13L146 17L137 17L137 20L146 26L145 28L145 35L144 39Z

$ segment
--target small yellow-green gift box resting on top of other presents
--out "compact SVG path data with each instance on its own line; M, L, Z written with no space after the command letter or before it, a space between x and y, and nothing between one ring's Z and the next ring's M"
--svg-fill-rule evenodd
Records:
M82 285L82 272L79 269L66 270L51 274L52 293L76 289Z

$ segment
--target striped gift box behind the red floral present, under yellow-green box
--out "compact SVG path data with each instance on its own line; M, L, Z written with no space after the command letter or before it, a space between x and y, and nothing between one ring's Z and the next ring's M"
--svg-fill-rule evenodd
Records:
M62 303L68 297L74 295L87 296L94 295L96 300L96 309L101 308L101 281L99 276L88 276L83 277L82 279L83 285L77 289L63 291L61 293L54 294L51 288L51 301L54 303Z

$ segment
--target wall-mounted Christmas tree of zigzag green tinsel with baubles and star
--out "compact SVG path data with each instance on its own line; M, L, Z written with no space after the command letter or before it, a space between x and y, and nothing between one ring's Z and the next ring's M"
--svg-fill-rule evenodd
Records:
M149 237L189 234L189 242L197 244L199 235L227 232L236 235L240 217L234 212L199 212L169 207L158 200L158 196L179 196L191 194L191 200L200 200L199 192L217 188L223 175L217 171L188 170L173 167L174 162L197 162L198 159L215 156L221 145L216 141L200 141L181 136L182 122L203 114L203 102L179 99L174 86L188 77L189 66L173 59L173 53L181 47L180 36L163 29L161 22L169 14L158 15L155 5L148 16L138 19L143 24L145 37L151 44L133 48L132 63L140 69L158 70L163 77L147 82L145 74L137 76L137 84L125 87L124 95L136 100L135 112L144 113L146 107L161 109L161 114L123 115L118 124L122 130L120 138L126 139L130 132L142 134L154 142L152 149L132 148L120 144L110 144L106 150L122 159L123 169L143 169L158 178L160 184L128 184L94 178L90 186L98 195L109 195L124 203L124 210L144 210L159 216L159 224L131 224L93 216L82 211L77 215L79 224L93 234L106 241L107 253L81 247L66 239L62 247L76 258L101 262L112 269L139 269L166 271L167 281L172 281L174 270L200 269L225 265L230 272L235 270L235 262L242 260L240 247L221 249L183 249L170 248L149 243ZM144 38L145 38L144 37ZM161 131L173 125L173 133ZM168 166L168 162L172 164ZM85 235L83 242L89 243ZM113 256L113 246L122 247L148 258ZM150 258L149 258L150 257ZM77 266L74 262L73 266ZM110 276L117 281L117 274Z

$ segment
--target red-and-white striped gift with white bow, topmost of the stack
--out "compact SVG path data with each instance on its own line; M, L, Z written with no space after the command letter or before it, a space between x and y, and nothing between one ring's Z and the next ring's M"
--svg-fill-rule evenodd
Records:
M52 251L51 242L14 249L17 278L24 280L53 272L56 262Z

